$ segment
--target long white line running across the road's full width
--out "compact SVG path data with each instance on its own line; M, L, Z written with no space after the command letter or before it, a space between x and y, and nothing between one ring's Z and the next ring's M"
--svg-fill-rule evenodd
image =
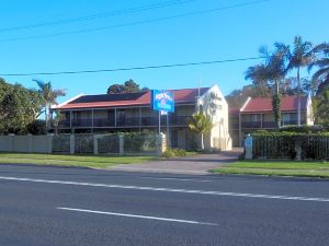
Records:
M279 200L329 202L329 198L315 198L315 197L291 197L291 196L277 196L277 195L265 195L265 194L240 194L240 192L224 192L224 191L196 190L196 189L157 188L157 187L147 187L147 186L106 185L106 184L97 184L97 183L79 183L79 181L48 180L48 179L19 178L19 177L4 177L4 176L0 176L0 179L16 180L16 181L31 181L31 183L60 184L60 185L75 185L75 186L117 188L117 189L136 189L136 190L151 190L151 191L166 191L166 192L180 192L180 194L213 195L213 196L226 196L226 197L248 197L248 198L265 198L265 199L279 199Z

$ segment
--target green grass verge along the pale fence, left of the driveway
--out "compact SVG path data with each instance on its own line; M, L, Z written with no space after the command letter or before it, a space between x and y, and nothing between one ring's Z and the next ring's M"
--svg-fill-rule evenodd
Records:
M0 153L0 164L36 164L59 166L107 167L117 164L141 163L159 160L157 156L112 156Z

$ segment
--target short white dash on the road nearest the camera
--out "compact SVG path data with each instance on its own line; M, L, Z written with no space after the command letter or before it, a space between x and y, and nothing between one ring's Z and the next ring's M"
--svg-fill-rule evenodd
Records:
M77 212L86 212L86 213L114 215L114 216L127 216L127 218L138 218L138 219L147 219L147 220L157 220L157 221L169 221L169 222L178 222L178 223L186 223L186 224L218 225L215 223L207 223L207 222L200 222L200 221L186 221L186 220L178 220L178 219L161 218L161 216L137 215L137 214L129 214L129 213L103 212L103 211L87 210L87 209L73 209L73 208L61 208L61 207L58 207L57 209L68 210L68 211L77 211Z

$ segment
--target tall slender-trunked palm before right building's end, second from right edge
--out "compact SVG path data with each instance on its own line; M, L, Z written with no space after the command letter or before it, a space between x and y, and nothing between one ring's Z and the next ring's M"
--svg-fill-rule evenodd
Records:
M297 70L297 124L300 126L300 69L303 67L308 67L314 61L313 45L310 42L304 42L300 36L295 36L294 47L292 50L288 50L287 55L287 71L293 69Z

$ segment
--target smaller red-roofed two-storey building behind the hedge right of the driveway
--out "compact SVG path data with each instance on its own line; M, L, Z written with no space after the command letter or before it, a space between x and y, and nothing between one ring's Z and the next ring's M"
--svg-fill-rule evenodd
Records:
M298 125L297 96L281 99L281 126ZM247 133L276 128L271 97L249 97L241 108L229 109L229 129L234 145L241 145ZM300 96L300 125L314 125L310 96Z

